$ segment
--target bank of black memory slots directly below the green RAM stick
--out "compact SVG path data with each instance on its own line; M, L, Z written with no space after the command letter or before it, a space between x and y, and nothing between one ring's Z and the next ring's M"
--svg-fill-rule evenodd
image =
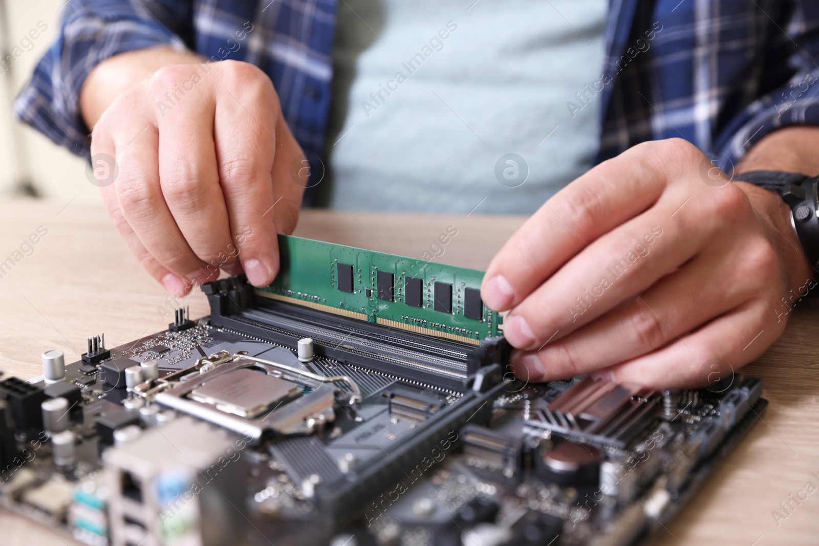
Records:
M497 339L475 346L422 336L278 300L255 302L249 285L238 282L210 283L203 285L203 291L215 327L289 346L309 336L319 356L455 392L464 390L477 368L500 362L505 346Z

